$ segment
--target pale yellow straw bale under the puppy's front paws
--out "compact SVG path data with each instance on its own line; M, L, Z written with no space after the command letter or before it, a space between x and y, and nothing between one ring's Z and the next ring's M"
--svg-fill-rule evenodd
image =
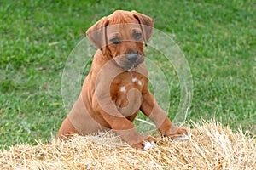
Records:
M194 123L188 141L154 136L152 150L134 150L114 133L67 143L21 144L0 151L1 169L253 169L256 140L218 123Z

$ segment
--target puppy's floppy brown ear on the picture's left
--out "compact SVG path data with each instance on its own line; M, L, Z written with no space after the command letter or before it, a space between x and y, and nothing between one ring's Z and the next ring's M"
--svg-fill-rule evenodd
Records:
M90 42L98 49L102 50L102 54L106 52L107 46L107 35L106 26L108 26L107 17L103 17L101 20L97 21L95 25L91 26L86 31L86 36Z

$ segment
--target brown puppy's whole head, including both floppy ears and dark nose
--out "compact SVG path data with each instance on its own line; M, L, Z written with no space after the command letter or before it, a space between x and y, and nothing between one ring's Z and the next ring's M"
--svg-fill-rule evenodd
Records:
M153 20L136 11L115 11L91 26L86 35L102 54L125 71L144 61L143 42L147 45L154 31Z

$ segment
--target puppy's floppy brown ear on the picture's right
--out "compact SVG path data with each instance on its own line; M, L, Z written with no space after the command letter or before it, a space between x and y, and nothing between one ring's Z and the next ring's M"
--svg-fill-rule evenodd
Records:
M149 16L137 13L135 10L131 11L131 14L138 20L143 31L145 46L147 46L148 39L152 36L154 31L154 21Z

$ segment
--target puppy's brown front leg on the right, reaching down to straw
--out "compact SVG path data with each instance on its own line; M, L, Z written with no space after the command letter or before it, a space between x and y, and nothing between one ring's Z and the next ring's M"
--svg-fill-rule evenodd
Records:
M176 127L172 124L166 112L160 108L154 99L154 95L148 90L143 95L143 104L140 109L154 122L163 135L169 136L171 139L177 139L183 134L188 134L186 129Z

